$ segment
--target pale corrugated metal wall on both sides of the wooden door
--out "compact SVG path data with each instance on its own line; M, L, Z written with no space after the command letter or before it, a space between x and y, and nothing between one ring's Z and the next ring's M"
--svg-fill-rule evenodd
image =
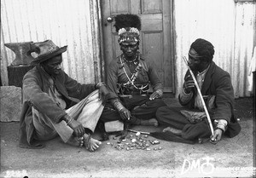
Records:
M98 0L99 1L99 0ZM7 68L15 59L3 43L52 39L68 45L63 69L81 83L102 78L101 47L96 0L1 0L1 75L8 84ZM214 61L230 72L236 97L249 96L247 70L255 46L256 4L235 0L174 0L176 32L176 94L183 84L182 56L196 38L215 46ZM254 40L254 42L253 42Z

